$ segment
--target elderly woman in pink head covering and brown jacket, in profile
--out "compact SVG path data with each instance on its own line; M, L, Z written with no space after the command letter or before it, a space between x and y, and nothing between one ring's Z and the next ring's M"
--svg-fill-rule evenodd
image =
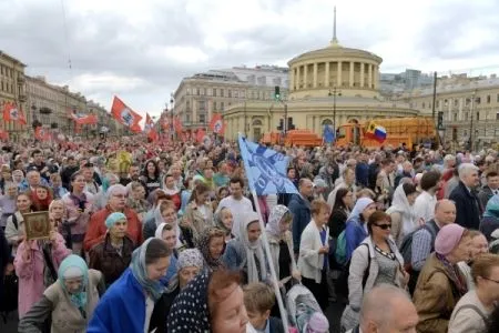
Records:
M456 223L440 229L435 239L435 252L427 259L414 292L418 332L447 332L454 307L468 292L457 263L468 261L470 251L468 230Z

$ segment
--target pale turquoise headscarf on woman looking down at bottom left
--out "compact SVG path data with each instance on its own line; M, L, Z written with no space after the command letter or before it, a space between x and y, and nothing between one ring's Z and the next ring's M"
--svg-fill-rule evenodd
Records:
M77 293L70 293L65 287L65 279L83 278L83 283ZM58 281L62 289L65 290L70 296L71 303L80 311L84 311L86 306L86 285L89 284L89 268L85 261L75 254L68 255L59 265Z

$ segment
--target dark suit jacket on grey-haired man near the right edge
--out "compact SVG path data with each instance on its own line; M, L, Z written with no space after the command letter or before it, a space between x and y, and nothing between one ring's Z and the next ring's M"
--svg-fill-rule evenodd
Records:
M482 209L477 194L468 191L466 185L459 181L449 199L456 203L456 223L464 228L478 230Z

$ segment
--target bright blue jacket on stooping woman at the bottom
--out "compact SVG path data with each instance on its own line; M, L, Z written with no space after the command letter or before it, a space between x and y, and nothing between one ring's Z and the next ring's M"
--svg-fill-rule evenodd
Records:
M145 295L126 269L99 302L88 333L144 332Z

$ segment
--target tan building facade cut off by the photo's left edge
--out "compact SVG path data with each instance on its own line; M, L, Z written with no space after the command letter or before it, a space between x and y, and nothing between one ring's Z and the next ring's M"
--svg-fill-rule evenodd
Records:
M0 51L0 111L4 103L16 103L24 114L27 113L27 95L24 91L24 68L26 64L20 60ZM9 132L10 139L17 141L23 138L26 125L18 122L4 121L3 113L1 129Z

